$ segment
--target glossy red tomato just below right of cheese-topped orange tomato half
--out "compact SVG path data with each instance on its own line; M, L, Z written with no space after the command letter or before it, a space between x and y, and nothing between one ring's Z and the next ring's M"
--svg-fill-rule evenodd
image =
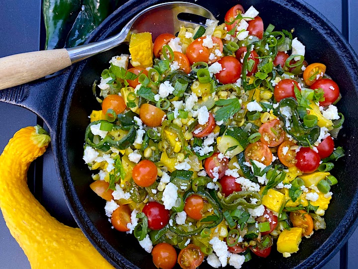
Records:
M241 63L233 56L222 57L218 63L221 64L222 69L215 74L215 78L222 84L235 83L241 75Z

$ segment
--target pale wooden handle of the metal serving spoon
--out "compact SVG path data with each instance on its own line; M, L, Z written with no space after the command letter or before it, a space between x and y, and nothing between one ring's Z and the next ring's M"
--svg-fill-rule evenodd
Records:
M53 74L71 65L66 49L26 52L0 58L0 90Z

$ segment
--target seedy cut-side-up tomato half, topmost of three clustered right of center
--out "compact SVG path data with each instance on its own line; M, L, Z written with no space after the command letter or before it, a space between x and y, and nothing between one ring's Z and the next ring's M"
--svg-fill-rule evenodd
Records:
M282 143L285 136L278 119L264 123L259 129L259 133L261 134L261 142L267 144L269 147L278 146Z

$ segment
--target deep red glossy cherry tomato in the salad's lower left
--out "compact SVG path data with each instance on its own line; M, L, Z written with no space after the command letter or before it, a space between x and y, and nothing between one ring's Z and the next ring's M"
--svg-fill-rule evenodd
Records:
M151 230L160 230L165 227L170 218L169 210L165 209L164 205L158 202L149 202L144 207L142 212L148 218L148 227Z

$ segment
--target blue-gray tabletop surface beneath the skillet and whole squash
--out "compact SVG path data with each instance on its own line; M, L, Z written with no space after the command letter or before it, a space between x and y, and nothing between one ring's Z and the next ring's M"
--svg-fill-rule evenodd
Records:
M358 52L358 0L306 0L341 32ZM41 0L0 0L0 57L43 49ZM41 34L40 34L41 33ZM42 39L42 40L41 40ZM0 152L20 128L42 124L33 113L0 103ZM36 179L36 180L35 180ZM9 180L12 180L9 178ZM63 223L75 226L60 190L51 149L48 148L29 170L29 186L45 208ZM323 268L358 268L358 230L348 243ZM28 269L26 256L11 237L0 213L0 268Z

